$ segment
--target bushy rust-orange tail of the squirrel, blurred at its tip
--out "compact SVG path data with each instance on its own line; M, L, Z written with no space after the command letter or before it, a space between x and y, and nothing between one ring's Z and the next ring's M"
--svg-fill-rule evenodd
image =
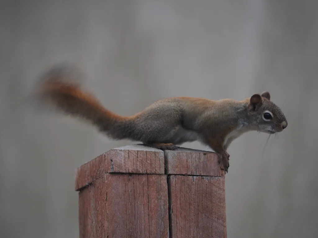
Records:
M38 102L42 106L51 105L64 114L84 119L100 131L108 132L114 139L127 137L125 130L129 130L129 117L107 110L95 96L81 89L71 78L70 68L63 65L46 72L36 90Z

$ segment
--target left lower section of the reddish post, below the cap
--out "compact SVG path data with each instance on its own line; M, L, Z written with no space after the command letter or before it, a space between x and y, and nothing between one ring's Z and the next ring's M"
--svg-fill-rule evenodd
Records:
M108 173L79 192L80 238L169 238L168 222L166 175Z

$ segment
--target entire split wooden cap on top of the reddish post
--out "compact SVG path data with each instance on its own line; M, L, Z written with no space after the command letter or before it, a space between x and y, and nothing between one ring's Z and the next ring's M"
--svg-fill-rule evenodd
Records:
M178 147L161 150L143 144L108 150L76 170L80 190L106 173L224 176L214 152Z

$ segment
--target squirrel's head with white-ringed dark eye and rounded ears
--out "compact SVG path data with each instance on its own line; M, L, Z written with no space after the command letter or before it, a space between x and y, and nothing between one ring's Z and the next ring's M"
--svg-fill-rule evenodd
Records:
M268 134L281 132L287 127L282 110L271 100L269 92L254 94L249 99L248 116L250 124L258 131Z

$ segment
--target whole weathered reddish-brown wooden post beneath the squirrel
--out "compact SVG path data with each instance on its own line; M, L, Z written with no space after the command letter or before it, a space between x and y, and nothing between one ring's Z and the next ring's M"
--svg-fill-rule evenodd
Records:
M77 169L80 238L226 238L215 153L115 148Z

